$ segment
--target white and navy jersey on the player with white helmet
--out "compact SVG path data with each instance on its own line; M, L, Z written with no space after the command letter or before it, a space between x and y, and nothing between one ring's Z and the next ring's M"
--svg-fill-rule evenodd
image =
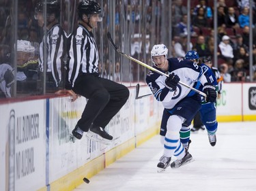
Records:
M209 82L207 77L202 75L201 67L190 60L184 60L184 58L168 58L168 64L168 74L175 73L180 77L180 82L188 86L199 89L200 83L205 84ZM154 66L154 68L160 70L158 67ZM152 90L154 97L156 100L161 101L166 109L172 109L184 97L191 97L197 93L181 84L177 84L176 90L171 91L165 86L166 78L166 76L151 70L147 73L146 77L147 85Z

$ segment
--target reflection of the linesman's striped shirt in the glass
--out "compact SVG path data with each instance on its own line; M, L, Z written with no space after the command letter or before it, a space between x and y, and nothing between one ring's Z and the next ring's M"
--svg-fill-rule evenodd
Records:
M59 24L55 24L47 31L47 35L44 36L40 44L39 69L44 71L44 46L46 46L46 72L52 73L56 87L59 86L61 80L64 80L62 74L67 55L66 39L66 32L63 31Z

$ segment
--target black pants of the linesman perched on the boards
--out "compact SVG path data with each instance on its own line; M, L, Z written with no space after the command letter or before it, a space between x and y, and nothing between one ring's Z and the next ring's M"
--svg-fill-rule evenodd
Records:
M77 122L85 132L89 131L92 123L104 128L129 97L126 86L98 77L98 74L80 74L72 90L88 99Z

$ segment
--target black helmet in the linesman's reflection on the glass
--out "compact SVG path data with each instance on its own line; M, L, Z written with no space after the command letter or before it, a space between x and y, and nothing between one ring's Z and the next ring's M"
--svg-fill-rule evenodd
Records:
M44 0L38 1L35 5L35 14L38 12L44 12ZM58 0L46 0L46 12L47 14L55 14L56 18L59 18L61 12L61 6Z

